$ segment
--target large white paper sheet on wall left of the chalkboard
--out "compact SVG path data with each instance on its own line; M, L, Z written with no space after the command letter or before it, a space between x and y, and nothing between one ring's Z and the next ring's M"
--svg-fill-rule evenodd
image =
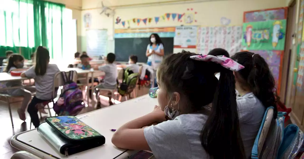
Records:
M107 55L108 31L102 30L87 30L87 54L88 56Z

